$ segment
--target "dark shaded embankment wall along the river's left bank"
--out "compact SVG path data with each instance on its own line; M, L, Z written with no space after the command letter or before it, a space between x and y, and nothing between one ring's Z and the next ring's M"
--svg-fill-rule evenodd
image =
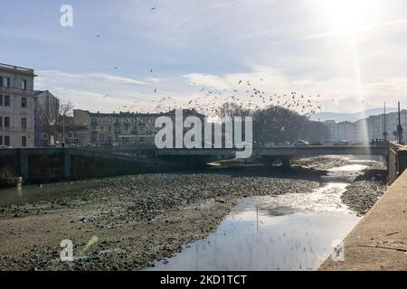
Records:
M77 149L39 148L0 151L0 181L60 182L183 169L182 163ZM1 182L0 182L1 186Z

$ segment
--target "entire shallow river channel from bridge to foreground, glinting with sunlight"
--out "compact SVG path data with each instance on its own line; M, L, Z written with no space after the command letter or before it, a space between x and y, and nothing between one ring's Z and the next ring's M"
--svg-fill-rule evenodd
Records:
M147 270L317 270L360 220L340 197L373 163L332 169L315 191L241 200L208 238Z

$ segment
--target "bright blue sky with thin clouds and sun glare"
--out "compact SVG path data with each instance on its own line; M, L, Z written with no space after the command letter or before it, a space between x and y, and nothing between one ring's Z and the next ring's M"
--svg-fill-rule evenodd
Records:
M276 104L252 100L252 88L311 96L321 112L407 103L405 0L0 3L0 62L33 68L35 89L76 108L158 111L232 95Z

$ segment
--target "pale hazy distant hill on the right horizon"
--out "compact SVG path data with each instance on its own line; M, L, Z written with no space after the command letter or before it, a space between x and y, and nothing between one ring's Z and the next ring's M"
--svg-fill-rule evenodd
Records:
M387 113L397 112L397 108L395 107L387 107ZM326 120L335 120L336 123L340 123L343 121L350 121L355 122L359 119L364 117L370 116L379 116L383 114L383 107L380 108L371 108L366 109L361 112L353 113L353 114L341 114L341 113L334 113L334 112L326 112L326 113L319 113L316 115L309 115L310 119L313 121L326 121Z

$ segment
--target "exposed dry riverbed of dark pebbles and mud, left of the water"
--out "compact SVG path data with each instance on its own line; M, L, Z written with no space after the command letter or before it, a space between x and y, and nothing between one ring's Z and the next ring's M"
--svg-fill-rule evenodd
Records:
M332 162L335 159L327 161ZM0 269L151 266L208 236L237 200L313 191L320 186L318 174L327 173L317 166L293 170L285 177L262 168L142 174L93 180L92 188L56 199L4 205L0 207ZM63 239L72 240L73 254L79 257L75 262L59 261Z

